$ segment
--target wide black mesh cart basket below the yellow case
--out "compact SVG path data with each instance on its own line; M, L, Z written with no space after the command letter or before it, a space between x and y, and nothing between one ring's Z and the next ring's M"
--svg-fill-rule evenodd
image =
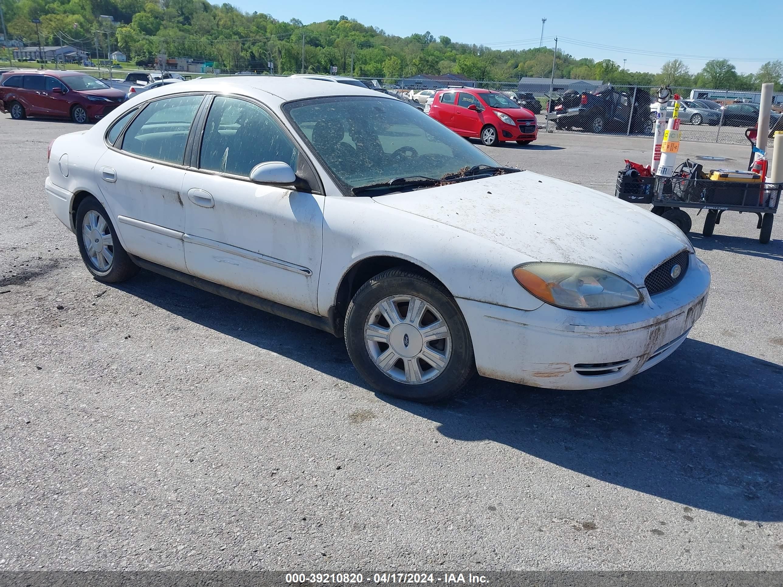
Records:
M685 207L778 208L781 184L719 182L711 179L658 178L651 203Z

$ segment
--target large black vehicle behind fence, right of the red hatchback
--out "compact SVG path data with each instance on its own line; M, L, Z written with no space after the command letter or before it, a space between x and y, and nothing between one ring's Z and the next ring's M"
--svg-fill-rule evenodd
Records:
M589 132L626 132L633 95L633 92L629 95L612 87L592 94L569 90L554 102L549 120L555 121L558 130L581 128ZM637 89L630 128L634 134L652 134L650 103L650 94Z

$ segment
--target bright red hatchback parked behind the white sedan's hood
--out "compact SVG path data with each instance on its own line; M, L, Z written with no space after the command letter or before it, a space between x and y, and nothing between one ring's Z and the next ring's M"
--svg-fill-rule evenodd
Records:
M536 115L492 90L438 90L430 106L430 116L457 135L481 139L486 146L495 146L500 141L529 145L538 138Z

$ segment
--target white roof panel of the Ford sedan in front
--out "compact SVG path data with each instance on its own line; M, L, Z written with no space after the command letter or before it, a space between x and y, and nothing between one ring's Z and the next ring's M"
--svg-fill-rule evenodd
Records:
M179 84L167 84L165 88L156 88L153 91L160 92L160 95L179 92L232 91L256 97L258 94L265 94L267 96L265 102L267 103L341 95L371 95L378 99L395 99L364 86L360 88L348 84L324 84L319 79L308 77L273 77L269 75L213 77L181 81Z

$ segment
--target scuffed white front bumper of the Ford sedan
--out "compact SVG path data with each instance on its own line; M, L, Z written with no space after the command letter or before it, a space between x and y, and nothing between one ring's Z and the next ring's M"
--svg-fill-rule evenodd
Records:
M619 384L671 355L702 315L709 269L695 255L684 279L625 308L574 312L543 304L525 312L457 298L478 373L551 389Z

